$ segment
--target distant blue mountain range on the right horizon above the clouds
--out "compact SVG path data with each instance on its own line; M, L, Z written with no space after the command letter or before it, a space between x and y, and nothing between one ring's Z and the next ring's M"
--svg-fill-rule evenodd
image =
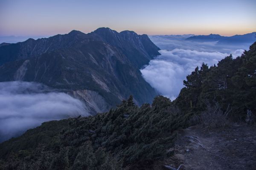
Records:
M221 36L219 34L209 34L209 35L196 35L186 38L189 41L197 42L212 42L218 41L218 44L228 44L228 43L248 43L252 44L256 41L256 32L252 32L244 35L233 35L231 37Z

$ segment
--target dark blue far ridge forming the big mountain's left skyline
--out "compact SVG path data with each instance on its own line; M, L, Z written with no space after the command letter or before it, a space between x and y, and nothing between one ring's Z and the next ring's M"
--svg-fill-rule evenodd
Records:
M65 35L55 35L49 38L34 40L29 38L24 42L2 43L0 44L0 65L16 59L26 59L44 54L61 48L68 48L84 38L89 38L87 34L80 31L71 31Z

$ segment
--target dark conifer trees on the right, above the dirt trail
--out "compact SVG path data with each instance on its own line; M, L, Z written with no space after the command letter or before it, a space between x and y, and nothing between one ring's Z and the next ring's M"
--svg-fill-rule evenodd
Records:
M218 103L231 119L243 122L247 110L256 112L256 43L236 59L230 55L211 67L203 63L186 79L174 101L181 111L199 115Z

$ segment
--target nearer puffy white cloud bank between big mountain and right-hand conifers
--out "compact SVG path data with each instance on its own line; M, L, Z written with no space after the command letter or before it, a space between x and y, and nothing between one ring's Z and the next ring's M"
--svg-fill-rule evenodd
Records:
M240 56L244 50L236 50L234 57ZM144 79L160 94L174 100L184 87L183 80L195 70L196 66L207 63L217 64L219 60L228 56L227 53L205 52L188 49L160 50L160 56L149 62L141 69Z

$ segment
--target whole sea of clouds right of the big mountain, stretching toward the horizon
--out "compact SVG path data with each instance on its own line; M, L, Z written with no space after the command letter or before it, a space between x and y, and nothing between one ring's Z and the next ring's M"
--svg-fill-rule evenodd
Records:
M160 56L152 59L141 69L144 79L161 95L174 100L184 87L183 80L195 67L206 63L209 66L230 54L241 56L249 47L233 44L219 45L217 42L193 42L185 39L189 35L156 35L150 39L161 48Z

